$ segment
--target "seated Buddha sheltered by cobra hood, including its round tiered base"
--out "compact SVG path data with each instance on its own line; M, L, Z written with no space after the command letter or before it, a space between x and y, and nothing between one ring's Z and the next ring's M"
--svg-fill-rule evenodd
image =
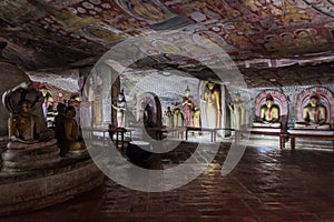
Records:
M3 105L10 111L10 142L2 153L2 171L42 169L60 161L57 140L41 135L40 117L32 113L33 109L41 109L40 92L27 87L20 84L3 93Z

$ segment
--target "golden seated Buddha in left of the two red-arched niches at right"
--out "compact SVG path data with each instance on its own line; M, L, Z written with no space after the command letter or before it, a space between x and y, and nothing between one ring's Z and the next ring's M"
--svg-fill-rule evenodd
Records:
M261 108L259 121L253 123L254 127L279 128L279 108L274 104L272 94L266 95L266 102Z

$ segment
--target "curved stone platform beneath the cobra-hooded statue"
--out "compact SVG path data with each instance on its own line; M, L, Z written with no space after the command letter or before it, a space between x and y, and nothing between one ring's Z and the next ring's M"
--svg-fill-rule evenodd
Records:
M0 172L0 218L58 204L100 185L104 173L89 157L65 158L52 167Z

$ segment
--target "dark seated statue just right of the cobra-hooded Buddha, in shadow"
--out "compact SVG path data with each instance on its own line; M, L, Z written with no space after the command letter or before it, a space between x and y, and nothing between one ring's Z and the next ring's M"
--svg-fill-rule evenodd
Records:
M81 153L85 150L85 144L81 138L79 138L79 127L75 119L75 107L66 108L65 119L65 144L63 148L70 153Z

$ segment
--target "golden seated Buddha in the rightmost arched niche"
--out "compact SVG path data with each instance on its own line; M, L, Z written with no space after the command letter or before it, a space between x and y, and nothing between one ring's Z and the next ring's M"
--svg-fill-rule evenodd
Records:
M303 120L304 122L297 122L295 128L331 129L326 123L326 108L320 103L320 98L314 93L310 97L310 103L303 108Z

